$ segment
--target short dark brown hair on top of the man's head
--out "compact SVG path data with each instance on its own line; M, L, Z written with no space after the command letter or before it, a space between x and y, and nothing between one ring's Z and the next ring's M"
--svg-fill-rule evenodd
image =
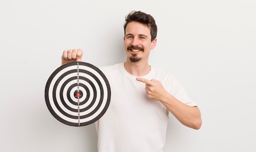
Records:
M130 22L139 22L146 24L150 29L151 42L157 37L157 25L155 19L150 15L141 11L131 11L127 16L124 24L124 35L126 35L126 26Z

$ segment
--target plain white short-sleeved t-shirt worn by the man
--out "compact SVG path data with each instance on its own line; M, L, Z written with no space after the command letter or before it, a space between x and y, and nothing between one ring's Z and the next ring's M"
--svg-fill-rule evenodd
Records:
M99 152L162 152L169 111L159 101L146 96L145 84L124 68L124 63L100 68L111 88L110 105L96 122ZM182 86L170 74L151 67L143 76L159 80L176 99L189 106Z

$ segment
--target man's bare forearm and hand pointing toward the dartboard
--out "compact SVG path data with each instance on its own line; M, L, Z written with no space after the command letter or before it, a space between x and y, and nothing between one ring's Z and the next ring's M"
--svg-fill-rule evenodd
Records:
M183 125L200 129L202 125L201 112L197 106L189 106L168 93L161 82L152 79L137 78L145 83L146 94L150 99L160 101Z

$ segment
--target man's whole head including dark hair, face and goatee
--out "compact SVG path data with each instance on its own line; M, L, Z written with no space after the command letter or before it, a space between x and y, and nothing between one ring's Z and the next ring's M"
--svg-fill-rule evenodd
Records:
M157 26L151 15L132 11L124 24L124 47L130 62L148 62L150 50L155 48ZM128 61L128 60L127 60Z

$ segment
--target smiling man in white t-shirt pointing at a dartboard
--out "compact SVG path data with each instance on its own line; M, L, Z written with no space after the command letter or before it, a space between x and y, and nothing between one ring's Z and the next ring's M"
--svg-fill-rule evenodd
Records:
M100 69L111 87L106 113L96 122L99 152L162 152L168 114L199 129L201 114L180 84L168 73L148 64L157 43L154 18L132 11L124 25L126 62ZM62 64L81 61L83 51L63 51Z

